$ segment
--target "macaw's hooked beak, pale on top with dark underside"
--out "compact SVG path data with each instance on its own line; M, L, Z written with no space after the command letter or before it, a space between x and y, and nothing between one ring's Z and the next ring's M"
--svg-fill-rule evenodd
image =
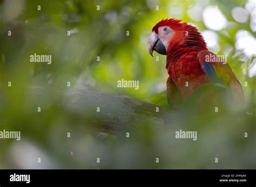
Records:
M147 51L149 51L151 56L153 56L153 51L166 55L166 48L154 31L150 35L149 40L147 40Z

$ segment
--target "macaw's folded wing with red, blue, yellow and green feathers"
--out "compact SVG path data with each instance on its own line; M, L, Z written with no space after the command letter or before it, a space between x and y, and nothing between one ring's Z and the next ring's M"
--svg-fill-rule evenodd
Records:
M208 50L200 51L197 57L211 82L225 85L236 100L244 100L241 84L224 59Z

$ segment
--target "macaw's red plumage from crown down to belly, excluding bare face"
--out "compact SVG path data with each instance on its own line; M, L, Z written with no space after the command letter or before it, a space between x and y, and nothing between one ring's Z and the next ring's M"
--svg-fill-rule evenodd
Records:
M176 102L178 95L185 99L198 87L211 81L208 72L201 67L203 62L198 59L199 52L208 51L208 49L196 27L172 18L161 20L152 28L152 31L158 34L159 27L163 26L173 30L170 41L167 41L169 45L166 50L166 69L169 74L167 93L169 103L172 104ZM224 74L231 75L232 70L228 64L223 67ZM232 77L235 78L235 76ZM235 80L237 81L236 78ZM241 90L241 87L238 89Z

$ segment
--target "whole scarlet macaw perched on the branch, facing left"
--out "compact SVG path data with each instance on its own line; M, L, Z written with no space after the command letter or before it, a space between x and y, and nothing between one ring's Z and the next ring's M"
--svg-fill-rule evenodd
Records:
M196 27L173 18L163 19L152 28L147 49L151 55L153 51L166 55L169 74L166 83L167 98L170 106L180 98L187 98L208 82L225 85L235 99L243 100L241 84L230 66L208 51L206 42Z

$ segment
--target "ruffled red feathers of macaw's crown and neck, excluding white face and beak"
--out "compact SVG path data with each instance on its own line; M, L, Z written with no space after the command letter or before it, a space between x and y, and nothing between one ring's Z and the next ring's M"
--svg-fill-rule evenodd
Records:
M167 50L166 69L168 73L170 73L172 62L179 60L187 52L199 52L207 49L204 38L197 27L189 25L186 22L181 23L181 20L171 18L159 21L152 28L152 31L158 34L158 28L161 26L169 26L174 31Z

